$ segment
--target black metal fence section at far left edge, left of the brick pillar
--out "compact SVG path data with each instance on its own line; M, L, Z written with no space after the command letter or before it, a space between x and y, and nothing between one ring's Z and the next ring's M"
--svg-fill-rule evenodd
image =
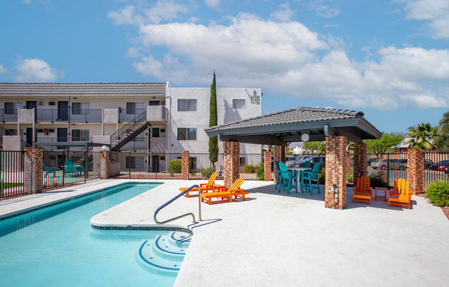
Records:
M23 190L23 166L22 151L0 150L0 197L25 193Z

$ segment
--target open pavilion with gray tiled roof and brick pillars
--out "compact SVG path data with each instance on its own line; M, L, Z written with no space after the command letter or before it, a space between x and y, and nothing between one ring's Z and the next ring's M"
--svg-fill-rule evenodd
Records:
M292 108L269 115L243 119L205 129L209 137L223 141L223 177L230 186L239 177L240 143L275 146L274 160L284 161L284 146L292 141L326 141L325 207L346 207L346 173L349 171L346 141L354 145L354 179L366 176L367 145L364 139L379 139L379 132L363 112L330 108ZM265 179L271 180L271 152L265 152ZM410 159L408 166L410 164ZM413 183L410 181L410 188ZM337 186L337 188L333 188Z

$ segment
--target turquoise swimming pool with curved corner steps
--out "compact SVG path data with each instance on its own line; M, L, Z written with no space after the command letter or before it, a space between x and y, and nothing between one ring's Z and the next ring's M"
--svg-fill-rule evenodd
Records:
M173 286L188 234L90 226L158 185L122 184L0 221L0 286Z

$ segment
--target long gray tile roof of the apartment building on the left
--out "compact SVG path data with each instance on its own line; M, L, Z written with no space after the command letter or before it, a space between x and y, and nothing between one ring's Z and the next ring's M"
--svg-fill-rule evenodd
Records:
M167 83L0 83L0 97L165 97Z

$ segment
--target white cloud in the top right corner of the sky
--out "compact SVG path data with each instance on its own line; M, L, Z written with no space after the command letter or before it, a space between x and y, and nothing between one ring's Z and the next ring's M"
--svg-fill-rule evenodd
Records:
M405 2L408 19L427 21L431 37L436 39L449 37L449 1L448 0L401 0Z

